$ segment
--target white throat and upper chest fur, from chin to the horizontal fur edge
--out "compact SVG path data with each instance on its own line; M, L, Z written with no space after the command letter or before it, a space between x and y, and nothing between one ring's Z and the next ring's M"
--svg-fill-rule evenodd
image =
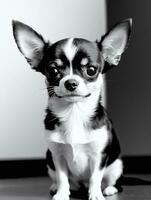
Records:
M95 115L100 100L100 91L79 102L67 102L53 97L49 99L48 108L61 123L61 137L67 143L87 143L91 140L89 124Z

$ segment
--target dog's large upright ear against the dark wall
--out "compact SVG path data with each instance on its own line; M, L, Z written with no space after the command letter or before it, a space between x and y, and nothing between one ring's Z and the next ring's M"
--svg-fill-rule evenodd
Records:
M126 19L116 24L99 42L99 48L104 60L108 64L108 69L112 65L117 66L119 64L121 55L128 46L131 27L132 19ZM102 73L106 70L103 69Z

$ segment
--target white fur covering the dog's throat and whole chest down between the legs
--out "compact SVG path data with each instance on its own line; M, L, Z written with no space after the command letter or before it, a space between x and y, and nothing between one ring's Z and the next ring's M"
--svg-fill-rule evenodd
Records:
M105 126L96 130L91 130L89 126L97 103L98 94L95 93L85 101L74 104L61 99L49 102L49 108L61 122L55 130L46 130L49 149L63 156L70 171L77 176L88 173L92 157L101 159L101 152L108 142Z

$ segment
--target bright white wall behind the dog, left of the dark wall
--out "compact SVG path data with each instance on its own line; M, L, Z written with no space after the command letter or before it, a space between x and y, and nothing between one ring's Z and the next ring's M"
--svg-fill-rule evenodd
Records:
M0 159L41 158L46 150L44 77L19 53L11 20L27 23L50 41L95 40L105 32L105 0L5 0L0 19Z

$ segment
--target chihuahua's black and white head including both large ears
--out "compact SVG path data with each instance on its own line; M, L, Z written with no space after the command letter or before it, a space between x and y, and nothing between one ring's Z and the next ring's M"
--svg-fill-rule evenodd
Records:
M81 101L101 89L105 63L118 65L130 38L131 22L116 24L95 42L70 38L51 44L19 21L13 21L13 33L31 67L46 76L49 96Z

